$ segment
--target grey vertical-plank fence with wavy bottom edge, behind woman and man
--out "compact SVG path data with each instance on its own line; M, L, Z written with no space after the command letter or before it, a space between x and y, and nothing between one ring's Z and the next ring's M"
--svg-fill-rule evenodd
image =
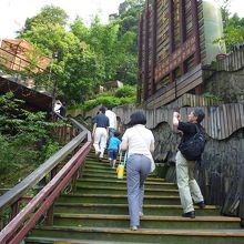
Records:
M199 106L205 112L205 119L202 125L205 128L206 134L212 139L223 140L228 138L235 131L244 128L244 103L230 103L218 106ZM182 114L182 120L187 120L187 114L194 108L167 109L160 108L155 110L143 110L146 114L150 129L155 129L160 123L166 122L173 130L172 118L175 110ZM122 124L128 124L130 115L142 109L134 105L114 108L114 112L121 119Z

